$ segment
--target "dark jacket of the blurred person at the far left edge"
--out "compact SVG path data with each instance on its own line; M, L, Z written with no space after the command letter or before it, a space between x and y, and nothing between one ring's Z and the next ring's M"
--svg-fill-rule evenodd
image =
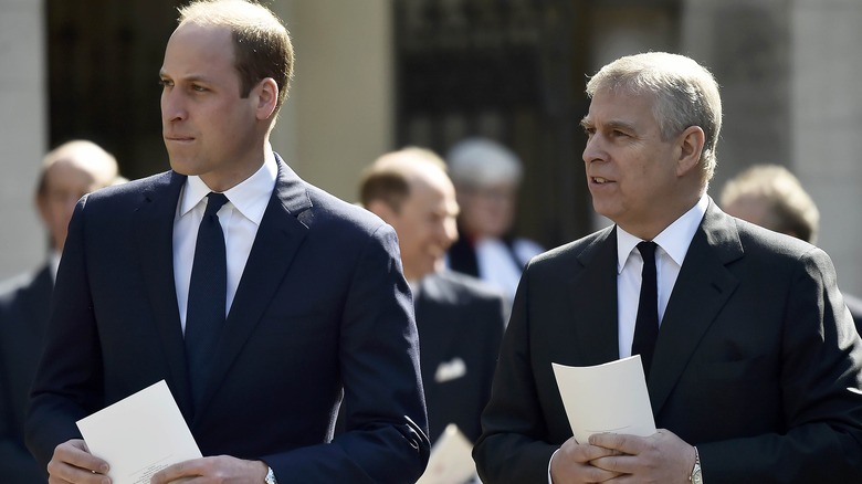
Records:
M48 265L0 288L0 481L44 483L24 446L24 415L39 357L54 280Z

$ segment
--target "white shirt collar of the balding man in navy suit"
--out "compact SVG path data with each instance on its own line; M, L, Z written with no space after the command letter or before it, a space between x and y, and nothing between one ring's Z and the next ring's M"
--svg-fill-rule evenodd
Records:
M224 191L224 194L243 217L260 225L263 212L266 211L270 197L275 188L277 176L278 165L275 161L272 148L267 146L264 150L264 160L261 168L251 177ZM212 190L207 187L207 183L200 177L196 175L189 176L183 188L182 200L180 201L180 217L183 217L197 207L210 191Z

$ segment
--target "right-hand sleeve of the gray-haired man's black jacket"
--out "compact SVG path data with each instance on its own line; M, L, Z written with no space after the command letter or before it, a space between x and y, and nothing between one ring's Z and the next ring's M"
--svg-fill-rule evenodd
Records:
M782 432L697 443L709 484L862 482L862 350L828 255L800 261L785 312ZM756 322L755 322L756 323Z

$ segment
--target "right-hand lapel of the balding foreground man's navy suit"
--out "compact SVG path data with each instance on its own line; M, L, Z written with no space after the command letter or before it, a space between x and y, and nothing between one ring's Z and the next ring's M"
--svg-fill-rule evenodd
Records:
M249 260L233 297L224 330L217 348L218 357L204 389L210 401L218 382L227 375L245 340L281 286L308 228L301 221L312 207L305 183L276 155L278 178L266 206ZM206 403L204 403L206 404ZM198 411L197 415L202 412Z

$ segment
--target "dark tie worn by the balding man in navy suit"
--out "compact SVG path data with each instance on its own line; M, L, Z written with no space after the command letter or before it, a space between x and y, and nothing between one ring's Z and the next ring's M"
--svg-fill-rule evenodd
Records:
M186 358L197 408L216 343L224 325L228 297L228 262L219 209L228 202L223 193L210 192L198 229L195 262L191 266L189 304L186 312Z

